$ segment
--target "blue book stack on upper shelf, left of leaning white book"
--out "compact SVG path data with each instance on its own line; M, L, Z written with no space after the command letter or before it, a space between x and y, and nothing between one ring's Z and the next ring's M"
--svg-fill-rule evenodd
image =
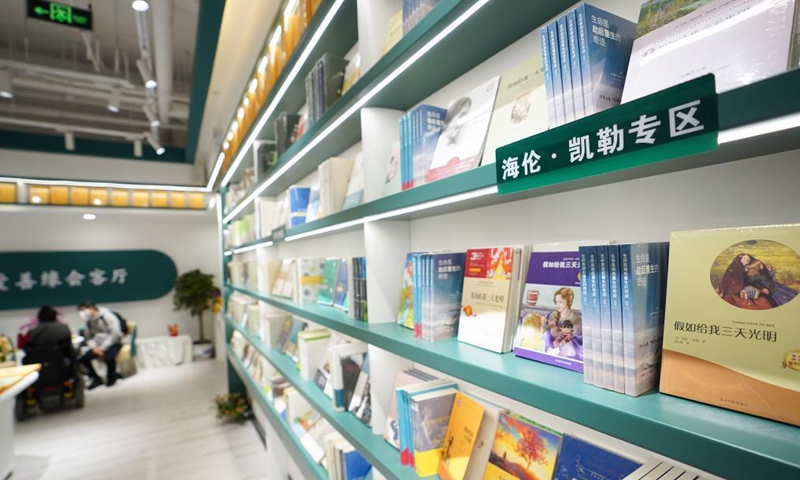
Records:
M400 182L403 190L425 183L447 110L420 105L400 119Z

